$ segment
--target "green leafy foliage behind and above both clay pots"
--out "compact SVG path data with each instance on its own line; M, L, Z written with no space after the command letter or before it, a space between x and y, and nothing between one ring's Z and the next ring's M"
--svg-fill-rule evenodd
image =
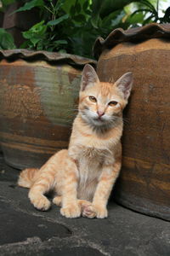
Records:
M37 8L40 22L23 32L26 42L21 48L92 57L95 39L107 37L117 27L127 29L153 21L170 22L170 8L165 11L164 17L158 15L159 3L163 0L23 1L25 4L17 12Z

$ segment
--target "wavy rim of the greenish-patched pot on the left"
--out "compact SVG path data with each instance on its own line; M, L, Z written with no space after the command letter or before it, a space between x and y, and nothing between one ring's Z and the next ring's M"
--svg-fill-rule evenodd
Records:
M79 55L70 55L65 53L58 52L48 52L45 50L28 50L28 49L0 49L0 60L41 60L48 62L56 62L62 61L71 65L80 65L83 66L85 64L92 64L94 67L96 66L97 61L93 59L88 59Z

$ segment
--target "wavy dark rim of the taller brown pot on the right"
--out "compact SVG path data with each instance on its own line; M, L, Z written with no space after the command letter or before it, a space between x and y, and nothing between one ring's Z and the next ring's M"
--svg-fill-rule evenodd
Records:
M116 28L107 38L97 38L94 42L94 57L99 59L104 49L111 49L122 42L139 42L151 38L170 38L170 24L150 23L146 26L135 27L127 30Z

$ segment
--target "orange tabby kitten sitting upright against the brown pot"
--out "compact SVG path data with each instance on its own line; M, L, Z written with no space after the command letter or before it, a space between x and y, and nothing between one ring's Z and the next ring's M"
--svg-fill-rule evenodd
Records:
M90 65L84 67L68 150L54 154L41 169L20 173L18 183L30 188L34 207L48 210L44 194L54 189L53 202L66 218L107 217L107 201L121 169L122 110L132 84L132 73L111 84L100 82Z

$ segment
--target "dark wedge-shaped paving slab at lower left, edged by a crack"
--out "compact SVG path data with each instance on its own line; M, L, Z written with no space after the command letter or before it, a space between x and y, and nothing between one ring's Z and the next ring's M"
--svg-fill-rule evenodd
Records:
M28 237L34 236L42 241L53 236L71 236L71 230L62 224L54 224L24 212L17 212L1 199L0 205L0 245L26 241Z

